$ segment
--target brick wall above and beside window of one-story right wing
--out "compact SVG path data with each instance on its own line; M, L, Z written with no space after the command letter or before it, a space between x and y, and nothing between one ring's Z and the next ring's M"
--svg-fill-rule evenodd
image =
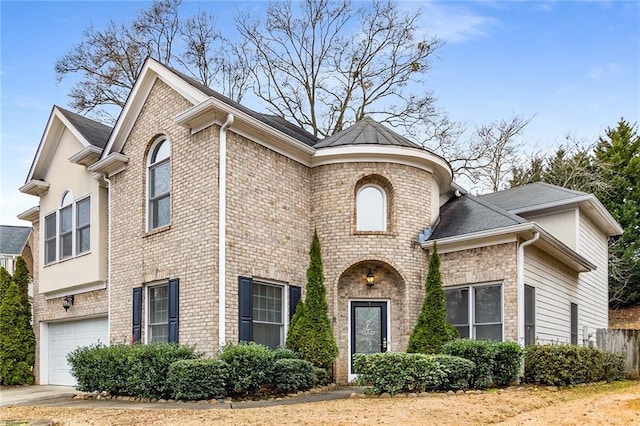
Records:
M517 244L505 243L440 255L444 288L502 284L503 340L518 338Z

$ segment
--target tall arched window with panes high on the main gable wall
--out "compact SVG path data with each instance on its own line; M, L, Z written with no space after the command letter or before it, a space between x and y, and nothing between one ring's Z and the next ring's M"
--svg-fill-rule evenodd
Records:
M149 230L168 225L171 219L170 155L171 146L165 137L156 140L149 151L147 161L147 228Z

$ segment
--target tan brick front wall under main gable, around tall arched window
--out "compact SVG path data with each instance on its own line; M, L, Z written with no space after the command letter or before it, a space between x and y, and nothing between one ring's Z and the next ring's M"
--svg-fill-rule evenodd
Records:
M134 287L179 278L179 340L212 356L218 341L218 127L191 135L177 125L174 117L190 106L157 80L123 148L127 168L112 179L110 338L132 335ZM171 143L171 221L147 232L147 154L159 135ZM145 299L143 292L143 322ZM143 327L143 340L145 333Z

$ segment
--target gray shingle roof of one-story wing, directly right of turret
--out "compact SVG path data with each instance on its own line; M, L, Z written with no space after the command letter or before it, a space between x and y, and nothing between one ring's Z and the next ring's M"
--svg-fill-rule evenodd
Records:
M478 197L463 195L451 198L440 208L440 222L429 239L454 237L521 223L527 223L527 220Z

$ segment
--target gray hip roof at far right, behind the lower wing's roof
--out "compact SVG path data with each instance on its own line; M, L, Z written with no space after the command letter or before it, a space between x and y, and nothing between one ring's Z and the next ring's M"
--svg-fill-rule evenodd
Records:
M505 210L513 211L586 195L589 194L544 182L536 182L491 194L479 195L478 198Z

